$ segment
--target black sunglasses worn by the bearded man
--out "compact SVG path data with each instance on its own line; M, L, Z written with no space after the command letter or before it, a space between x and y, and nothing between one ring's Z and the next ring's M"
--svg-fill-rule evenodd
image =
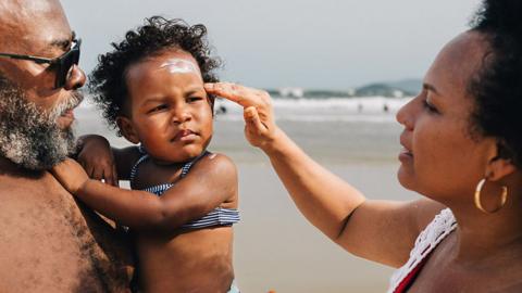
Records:
M50 64L50 66L57 73L57 79L54 81L54 87L57 89L62 88L67 81L67 75L73 67L73 65L78 65L79 62L79 46L82 44L82 39L73 40L71 49L59 58L48 59L39 58L33 55L20 55L20 54L10 54L10 53L0 53L0 58L10 58L18 60L28 60L37 64Z

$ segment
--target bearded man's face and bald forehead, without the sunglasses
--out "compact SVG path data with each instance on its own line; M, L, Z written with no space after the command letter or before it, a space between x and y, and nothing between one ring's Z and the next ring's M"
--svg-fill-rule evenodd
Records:
M57 0L2 0L0 52L54 59L70 48L73 33ZM74 146L72 110L85 82L74 65L55 88L49 64L0 59L0 155L29 169L45 169Z

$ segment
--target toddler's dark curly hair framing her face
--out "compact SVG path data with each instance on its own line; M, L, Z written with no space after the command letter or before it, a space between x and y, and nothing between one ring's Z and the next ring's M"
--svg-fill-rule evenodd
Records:
M120 43L112 42L113 51L98 58L98 65L89 75L89 90L109 126L117 129L116 117L123 115L128 88L126 71L144 59L169 49L188 52L198 62L204 82L215 82L213 69L221 65L211 56L207 41L207 28L198 24L189 26L183 20L166 20L162 16L146 18L145 25L125 34ZM213 105L215 97L209 97ZM117 135L121 136L120 130Z

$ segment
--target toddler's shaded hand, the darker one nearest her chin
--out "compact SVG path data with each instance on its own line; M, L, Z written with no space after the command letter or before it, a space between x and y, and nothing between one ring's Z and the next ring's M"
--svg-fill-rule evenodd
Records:
M87 175L95 180L103 179L105 183L119 186L117 171L109 141L101 136L88 135L80 138L82 150L77 161Z

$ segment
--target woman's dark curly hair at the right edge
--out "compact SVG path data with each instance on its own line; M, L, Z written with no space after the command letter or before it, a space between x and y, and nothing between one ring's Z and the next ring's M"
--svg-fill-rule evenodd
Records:
M484 0L471 23L488 52L469 82L474 132L495 137L499 157L522 168L522 1Z

